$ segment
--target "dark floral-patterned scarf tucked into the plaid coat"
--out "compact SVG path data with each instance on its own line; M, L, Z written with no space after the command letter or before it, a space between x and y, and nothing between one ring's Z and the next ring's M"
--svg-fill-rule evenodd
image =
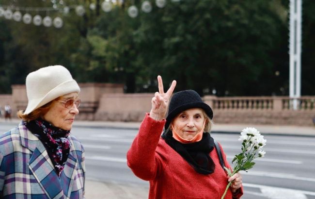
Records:
M70 152L70 142L67 139L70 131L54 127L40 118L30 122L24 121L24 125L43 143L60 177Z

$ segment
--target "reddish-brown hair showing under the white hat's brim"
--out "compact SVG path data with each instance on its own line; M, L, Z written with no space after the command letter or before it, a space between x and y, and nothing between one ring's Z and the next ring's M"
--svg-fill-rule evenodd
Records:
M54 100L59 100L59 99L61 99L61 97L56 98ZM47 104L45 104L45 105L43 105L43 106L33 110L31 113L26 114L26 115L23 114L23 112L24 112L23 110L19 110L17 112L17 116L20 119L23 119L24 121L27 121L27 122L29 122L31 120L34 120L34 119L37 119L39 117L42 117L50 110L54 100L49 101Z

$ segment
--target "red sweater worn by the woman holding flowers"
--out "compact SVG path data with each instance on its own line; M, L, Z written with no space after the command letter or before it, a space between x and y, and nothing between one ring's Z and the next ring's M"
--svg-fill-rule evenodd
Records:
M197 173L160 137L165 120L156 121L146 114L127 152L127 164L139 178L150 181L149 199L221 199L228 177L216 149L210 156L216 167L212 174ZM220 146L221 147L221 146ZM224 164L230 168L221 148ZM233 199L243 195L239 189ZM232 199L229 189L224 199Z

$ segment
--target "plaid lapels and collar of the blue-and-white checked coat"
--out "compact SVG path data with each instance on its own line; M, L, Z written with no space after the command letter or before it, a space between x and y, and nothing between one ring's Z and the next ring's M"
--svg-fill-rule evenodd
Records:
M48 156L42 142L31 133L21 121L18 125L21 145L32 151L28 163L31 172L49 199L70 197L71 188L74 183L75 170L78 166L76 149L74 148L71 136L68 139L71 143L68 159L60 178L54 170L54 166Z

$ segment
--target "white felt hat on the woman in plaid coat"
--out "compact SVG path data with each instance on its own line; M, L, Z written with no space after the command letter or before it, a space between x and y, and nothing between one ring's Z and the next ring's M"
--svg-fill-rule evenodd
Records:
M29 99L24 115L60 96L80 92L78 83L63 66L47 66L31 72L26 77L26 93Z

